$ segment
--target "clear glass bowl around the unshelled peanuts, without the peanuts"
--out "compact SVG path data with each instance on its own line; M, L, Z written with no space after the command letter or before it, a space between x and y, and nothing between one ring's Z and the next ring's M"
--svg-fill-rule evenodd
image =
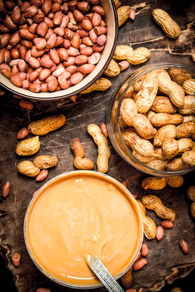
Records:
M190 171L195 170L194 167L188 167L182 170L170 171L170 170L158 170L148 166L147 164L139 161L130 151L130 148L124 143L121 135L121 130L119 126L119 111L121 102L125 96L125 93L128 91L130 86L142 75L149 73L156 69L164 69L169 71L171 68L181 69L185 73L191 74L195 77L195 71L191 68L172 63L158 63L152 65L143 66L129 76L127 76L114 91L107 109L106 123L108 128L108 134L112 145L114 146L117 153L128 163L136 167L138 170L141 170L145 173L154 176L162 177L172 177L177 175L183 175ZM164 95L164 94L163 94Z

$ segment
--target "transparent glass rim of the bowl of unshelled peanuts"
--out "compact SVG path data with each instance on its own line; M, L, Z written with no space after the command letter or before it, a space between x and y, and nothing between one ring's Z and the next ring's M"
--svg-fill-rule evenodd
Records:
M147 173L147 174L150 174L150 175L154 175L154 176L163 176L163 177L170 177L170 176L178 176L178 175L183 175L183 174L186 174L188 172L191 172L193 170L195 170L195 166L194 167L189 167L187 169L184 169L184 170L176 170L176 171L165 171L165 170L159 170L159 169L155 169L155 168L152 168L150 166L148 166L147 164L144 164L143 162L141 162L140 160L137 159L137 157L135 157L133 155L133 153L129 150L128 146L125 144L125 142L123 141L122 139L122 135L121 135L121 131L120 131L120 127L119 127L119 123L118 123L118 118L119 118L119 111L120 111L120 105L121 105L121 102L124 98L124 95L126 93L126 91L129 89L129 87L139 78L141 77L142 75L146 74L146 73L149 73L153 70L156 70L156 69L166 69L166 67L170 67L170 68L177 68L177 69L183 69L185 71L190 71L192 73L195 74L195 70L188 67L188 66L185 66L185 65L180 65L180 64L177 64L177 63L167 63L167 62L160 62L160 63L152 63L152 64L148 64L148 65L145 65L145 66L142 66L136 70L134 70L132 73L130 73L127 77L125 77L121 82L120 84L117 86L116 90L113 92L110 100L109 100L109 104L108 104L108 107L107 107L107 114L106 114L106 125L107 125L107 128L108 128L108 135L109 135L109 139L113 145L113 147L115 148L115 150L117 151L117 153L119 154L119 156L125 160L128 164L131 164L132 166L136 167L138 170L144 172L144 173ZM136 75L137 74L137 75ZM134 75L136 75L136 77L134 78ZM131 156L136 162L137 164L133 164L128 158L126 158L126 156L122 156L120 151L117 149L116 147L116 138L115 138L115 135L112 133L112 130L111 130L111 124L112 124L112 109L113 109L113 104L114 104L114 101L115 101L115 97L117 95L117 93L119 92L119 90L122 88L122 85L130 78L132 77L132 81L126 86L125 90L122 92L120 98L118 99L118 106L117 106L117 113L116 113L116 129L117 129L117 134L119 136L119 140L120 140L120 143L122 144L122 146L124 147L125 151L128 153L129 156ZM123 152L121 150L121 152ZM139 166L140 164L140 166ZM142 169L142 166L144 167L144 170Z

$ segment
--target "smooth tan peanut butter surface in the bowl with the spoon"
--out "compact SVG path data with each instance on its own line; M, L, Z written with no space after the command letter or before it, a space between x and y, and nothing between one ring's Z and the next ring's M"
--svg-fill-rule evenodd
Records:
M117 184L95 175L60 179L35 197L26 239L39 267L60 281L99 283L85 262L98 256L116 276L140 243L137 209Z

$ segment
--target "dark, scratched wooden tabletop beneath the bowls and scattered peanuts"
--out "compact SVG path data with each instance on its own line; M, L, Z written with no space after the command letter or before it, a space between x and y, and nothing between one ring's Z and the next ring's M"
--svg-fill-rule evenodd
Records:
M193 1L122 0L122 4L134 6L137 16L134 22L128 20L119 29L118 44L131 44L134 49L140 46L147 47L151 50L148 64L163 61L180 63L195 69L195 5ZM165 36L152 19L154 8L166 10L177 21L181 28L181 35L176 40ZM69 146L71 139L79 137L85 148L86 157L96 161L97 146L87 134L86 127L91 123L99 125L105 122L106 109L112 92L124 77L140 66L132 65L117 77L110 78L112 87L106 92L92 92L78 96L76 104L69 100L53 103L37 102L34 104L34 109L28 111L21 109L19 100L13 98L8 92L1 96L0 183L2 185L9 181L11 192L9 197L0 204L0 210L7 212L7 216L0 219L0 254L6 261L9 273L13 274L19 292L35 292L39 287L49 288L52 292L75 291L47 279L33 264L24 244L24 215L35 190L53 177L75 169ZM57 155L58 165L49 170L47 179L42 183L36 183L34 179L21 176L17 171L17 164L24 158L18 157L15 153L18 143L17 132L20 128L27 126L30 121L60 113L65 114L67 118L65 126L40 137L41 147L38 153L38 155ZM166 186L161 191L144 192L141 189L141 182L146 175L124 162L110 143L109 146L111 158L108 175L118 181L127 180L128 189L139 195L138 199L141 199L144 194L156 194L166 206L176 211L174 228L165 230L165 235L160 242L156 239L144 239L149 247L148 264L142 270L133 272L132 287L137 288L137 291L159 291L164 285L189 274L195 267L195 222L190 216L191 202L186 196L188 186L194 183L195 173L185 175L184 184L179 189ZM28 159L33 160L34 157ZM161 219L157 218L153 211L148 210L147 215L155 220L156 225L160 224ZM189 244L190 253L187 256L183 255L179 249L181 238ZM11 256L14 253L21 255L21 264L18 269L11 263ZM11 279L9 273L7 276ZM9 291L14 291L14 289Z

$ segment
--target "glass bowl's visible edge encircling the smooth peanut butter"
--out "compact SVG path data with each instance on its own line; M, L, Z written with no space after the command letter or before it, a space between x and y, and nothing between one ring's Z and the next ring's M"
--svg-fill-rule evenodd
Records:
M116 276L115 279L120 278L123 274L125 274L130 267L133 265L133 263L135 262L140 249L141 249L141 245L143 242L143 221L142 221L142 216L141 216L141 212L138 206L137 201L135 200L135 198L133 197L133 195L130 193L130 191L128 191L128 189L126 187L124 187L121 183L119 183L117 180L111 178L110 176L103 174L103 173L99 173L96 171L89 171L89 170L76 170L76 171L71 171L71 172L67 172L67 173L63 173L60 174L59 176L53 178L52 180L50 180L49 182L45 183L38 191L38 193L32 198L27 210L26 210L26 215L24 218L24 240L25 240L25 244L26 244L26 248L27 251L31 257L31 259L33 260L34 264L39 268L39 270L45 274L48 278L50 278L51 280L57 282L60 285L69 287L69 288L77 288L77 289L94 289L94 288L98 288L98 287L102 287L103 285L101 283L98 284L92 284L92 285L78 285L78 284L72 284L72 283L68 283L66 281L60 280L58 278L55 278L54 276L52 276L52 274L49 274L47 271L44 270L43 267L41 267L39 265L39 263L36 261L35 256L33 255L33 251L32 251L32 246L31 243L29 242L28 236L27 236L27 230L28 230L28 218L29 218L29 214L31 211L31 208L33 207L34 203L36 202L36 198L38 198L39 196L41 196L41 194L44 192L45 189L48 189L52 184L62 181L64 178L70 178L70 177L77 177L77 176L87 176L87 175L92 175L95 178L100 178L103 179L104 181L107 181L108 183L114 184L115 186L117 186L126 196L127 198L131 201L133 208L135 209L135 212L137 213L137 219L138 219L138 226L139 226L139 232L138 232L138 238L137 238L137 248L134 251L134 254L132 256L132 260L128 263L128 265L126 265L125 267L123 267L123 270L121 270ZM62 251L63 252L63 251Z

